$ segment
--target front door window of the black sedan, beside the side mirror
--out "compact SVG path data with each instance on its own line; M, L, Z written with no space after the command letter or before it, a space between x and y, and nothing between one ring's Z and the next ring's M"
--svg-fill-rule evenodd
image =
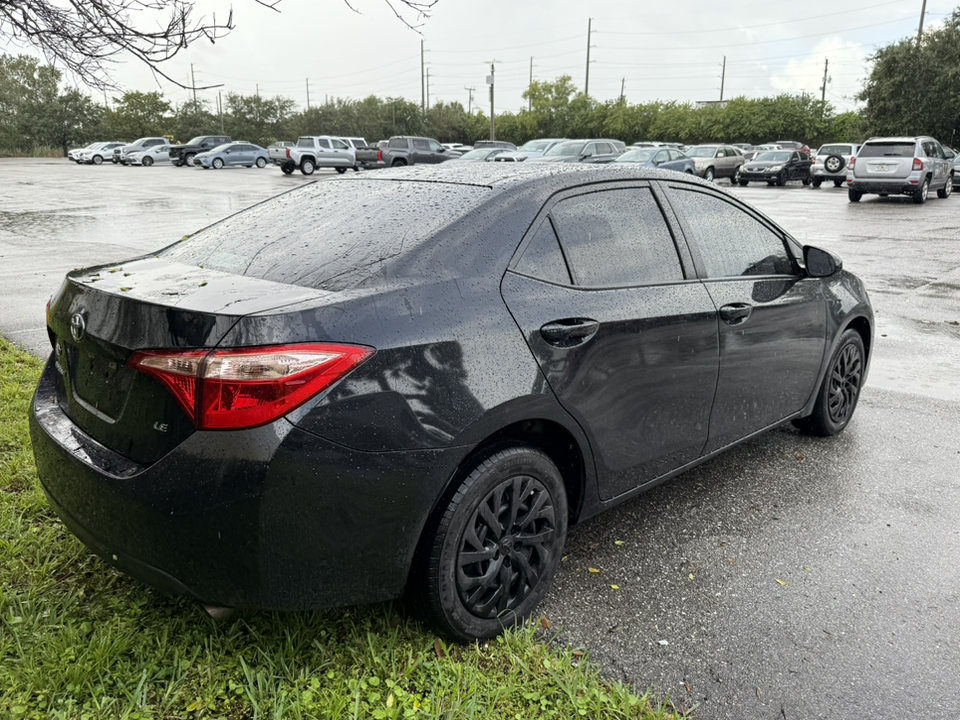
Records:
M741 208L715 195L671 188L708 278L792 275L783 239Z

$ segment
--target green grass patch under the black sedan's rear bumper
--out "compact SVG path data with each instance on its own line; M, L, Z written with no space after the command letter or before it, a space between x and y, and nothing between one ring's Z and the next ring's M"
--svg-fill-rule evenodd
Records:
M120 574L43 498L26 421L40 368L0 338L0 717L676 717L538 627L450 646L394 604L217 623Z

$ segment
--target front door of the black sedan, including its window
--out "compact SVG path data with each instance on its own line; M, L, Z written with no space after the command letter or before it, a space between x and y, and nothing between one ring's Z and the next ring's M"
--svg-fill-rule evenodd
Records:
M719 315L712 452L803 408L823 363L826 306L779 228L707 188L668 193Z

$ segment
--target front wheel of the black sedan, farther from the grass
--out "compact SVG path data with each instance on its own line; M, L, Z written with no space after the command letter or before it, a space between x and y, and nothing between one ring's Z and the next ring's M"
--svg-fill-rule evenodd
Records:
M829 437L841 432L857 409L866 368L863 338L856 330L846 330L833 351L823 383L817 391L813 412L793 421L810 435Z

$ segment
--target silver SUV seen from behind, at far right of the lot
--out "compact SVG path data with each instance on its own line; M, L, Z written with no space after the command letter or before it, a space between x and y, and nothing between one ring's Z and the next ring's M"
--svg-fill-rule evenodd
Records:
M870 138L847 163L847 195L910 195L918 205L931 190L946 198L953 190L953 163L931 137Z

